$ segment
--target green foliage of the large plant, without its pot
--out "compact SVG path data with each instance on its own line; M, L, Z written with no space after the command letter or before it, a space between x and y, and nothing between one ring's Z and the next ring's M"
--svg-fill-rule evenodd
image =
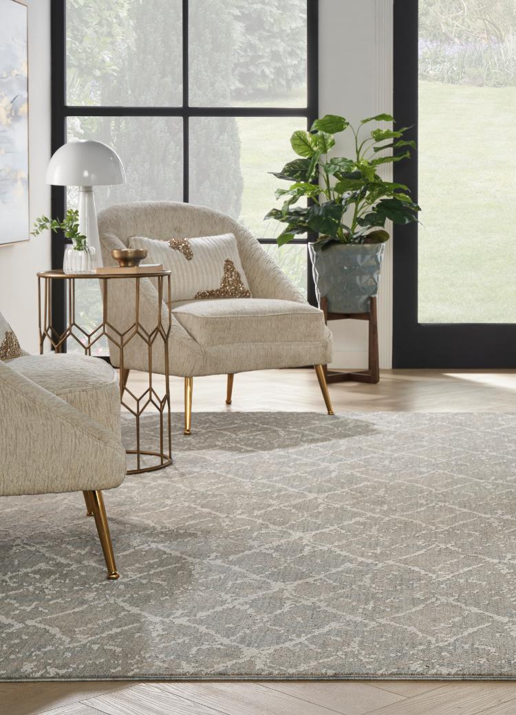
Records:
M408 127L373 129L364 137L370 122L394 122L394 118L377 114L355 128L344 117L326 114L313 122L310 132L292 134L291 147L301 158L288 162L280 172L271 172L293 182L288 189L276 189L276 199L283 198L283 205L266 215L286 224L278 245L308 231L320 235L315 246L321 249L332 242L383 243L389 240L387 220L396 224L417 221L420 209L408 187L386 182L377 173L382 164L411 157L410 149L416 144L403 139ZM334 135L346 129L354 134L354 157L328 156L336 143ZM393 153L381 155L385 149ZM311 205L296 205L303 198L311 199Z

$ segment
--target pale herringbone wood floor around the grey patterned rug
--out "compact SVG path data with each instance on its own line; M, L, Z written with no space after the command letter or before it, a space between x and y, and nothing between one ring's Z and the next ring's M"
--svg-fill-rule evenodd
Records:
M160 378L157 378L158 380ZM139 376L131 375L135 383ZM172 410L182 410L173 378ZM516 372L389 370L379 385L331 386L336 412L516 410ZM195 411L323 410L312 370L194 380ZM181 419L182 415L175 415ZM195 438L195 436L193 437ZM516 715L516 682L0 683L3 715Z

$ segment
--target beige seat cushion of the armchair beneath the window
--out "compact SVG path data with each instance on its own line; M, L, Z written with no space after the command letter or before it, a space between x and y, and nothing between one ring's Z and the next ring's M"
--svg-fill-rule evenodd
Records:
M321 310L305 302L266 298L195 300L176 307L173 315L200 345L321 342Z

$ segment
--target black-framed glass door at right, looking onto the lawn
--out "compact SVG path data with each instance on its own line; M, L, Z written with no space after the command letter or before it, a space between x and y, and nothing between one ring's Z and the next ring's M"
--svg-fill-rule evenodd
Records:
M396 368L516 366L515 32L511 1L394 0L394 116L418 142L394 181L422 206L394 232Z

